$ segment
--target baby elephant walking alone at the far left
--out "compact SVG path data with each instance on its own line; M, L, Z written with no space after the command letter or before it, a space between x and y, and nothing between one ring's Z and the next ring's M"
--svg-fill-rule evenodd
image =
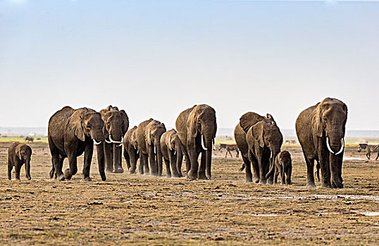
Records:
M12 143L8 149L8 179L11 180L13 166L15 167L15 179L20 180L20 169L25 163L26 179L30 177L30 156L32 156L32 148L25 143Z

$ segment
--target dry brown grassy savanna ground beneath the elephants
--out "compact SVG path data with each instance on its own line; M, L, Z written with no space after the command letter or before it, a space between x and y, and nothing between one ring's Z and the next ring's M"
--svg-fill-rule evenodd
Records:
M214 153L210 181L124 173L103 182L95 153L92 182L81 174L52 181L46 143L30 143L32 181L24 168L21 181L8 181L9 145L0 143L1 245L379 243L379 216L368 213L379 212L379 161L356 147L345 150L344 189L308 189L299 146L282 148L292 154L294 184L261 186L244 183L242 160L223 158L225 150Z

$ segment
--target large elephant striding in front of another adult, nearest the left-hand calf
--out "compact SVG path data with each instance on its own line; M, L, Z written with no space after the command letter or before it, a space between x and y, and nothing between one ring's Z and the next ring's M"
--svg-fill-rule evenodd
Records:
M77 173L76 158L85 153L83 166L84 181L91 181L89 169L91 168L94 143L97 145L97 159L101 179L106 181L104 171L104 122L99 112L89 108L79 108L74 110L71 107L64 107L58 110L49 119L48 136L51 161L53 168L50 177L54 172L56 179L63 181L70 180ZM62 172L63 160L68 158L70 168Z

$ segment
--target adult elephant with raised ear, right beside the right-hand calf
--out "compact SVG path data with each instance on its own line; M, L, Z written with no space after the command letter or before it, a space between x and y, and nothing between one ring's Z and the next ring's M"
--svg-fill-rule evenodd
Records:
M249 134L247 134L249 133ZM263 117L255 112L247 112L235 127L235 141L246 167L246 181L252 182L251 165L255 183L273 183L273 175L266 175L273 160L280 153L283 137L273 116ZM241 170L242 170L241 169ZM266 177L267 176L267 177Z

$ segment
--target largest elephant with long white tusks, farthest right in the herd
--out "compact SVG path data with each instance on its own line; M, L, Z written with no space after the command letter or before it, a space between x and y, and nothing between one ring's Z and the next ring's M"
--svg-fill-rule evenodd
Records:
M315 160L321 165L323 187L344 187L342 159L346 120L347 105L335 98L325 98L297 117L296 134L306 161L306 187L316 187L313 176Z

